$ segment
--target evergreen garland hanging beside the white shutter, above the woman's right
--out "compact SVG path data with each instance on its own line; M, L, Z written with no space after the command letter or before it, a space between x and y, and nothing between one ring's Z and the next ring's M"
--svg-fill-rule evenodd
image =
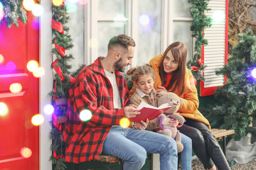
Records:
M202 70L205 65L199 60L201 59L202 46L207 45L208 41L204 39L203 29L211 26L211 19L204 14L204 11L209 11L209 0L188 0L192 4L190 7L193 22L191 26L192 37L196 38L194 55L192 60L188 62L187 67L191 69L193 77L196 80L204 80Z

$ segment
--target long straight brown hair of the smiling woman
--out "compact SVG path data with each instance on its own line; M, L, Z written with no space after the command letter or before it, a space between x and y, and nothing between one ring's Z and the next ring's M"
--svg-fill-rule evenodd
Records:
M159 74L161 77L161 84L166 84L166 75L164 72L164 58L166 57L167 52L171 50L171 55L173 55L174 60L178 61L178 69L172 72L171 80L169 81L169 85L167 86L167 90L171 89L171 91L178 91L177 95L183 94L185 89L185 73L186 73L186 56L187 49L186 45L181 42L174 42L169 45L164 51L161 64L159 67Z

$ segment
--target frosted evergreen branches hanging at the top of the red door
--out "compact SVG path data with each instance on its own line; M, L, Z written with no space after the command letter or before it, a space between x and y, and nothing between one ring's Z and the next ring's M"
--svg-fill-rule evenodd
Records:
M27 13L21 4L21 0L1 0L1 3L4 6L4 18L8 28L11 28L13 23L18 27L18 18L21 19L22 23L26 24ZM3 21L0 21L0 25Z

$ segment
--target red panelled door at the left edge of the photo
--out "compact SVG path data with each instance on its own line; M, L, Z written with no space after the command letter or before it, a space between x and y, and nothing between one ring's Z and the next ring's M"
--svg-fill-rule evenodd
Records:
M38 78L28 72L26 65L39 58L39 23L28 13L27 24L19 22L7 28L0 26L0 103L8 108L6 115L0 115L0 169L39 169L39 128L31 123L39 111ZM1 57L1 56L0 56ZM11 93L11 84L21 84L22 90ZM3 109L3 107L0 107ZM1 112L1 111L0 111ZM31 157L21 156L21 149L31 149Z

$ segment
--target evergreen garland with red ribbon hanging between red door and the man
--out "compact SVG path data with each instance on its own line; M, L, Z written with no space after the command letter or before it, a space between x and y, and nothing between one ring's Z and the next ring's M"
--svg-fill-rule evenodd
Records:
M73 59L73 55L65 55L65 50L70 50L73 47L73 42L68 31L69 28L66 26L70 17L68 16L68 11L63 3L60 6L52 5L53 21L58 23L58 28L53 27L52 21L52 43L53 50L52 54L56 58L55 62L52 64L52 68L55 69L55 81L54 89L50 92L50 96L53 96L53 106L55 112L53 116L61 117L65 116L67 112L67 104L57 105L55 100L58 98L68 98L68 89L70 88L70 72L68 69L71 65L68 61ZM63 50L64 49L64 50ZM53 121L54 121L53 117ZM57 129L58 128L58 129ZM52 131L50 137L52 139L52 150L53 154L50 157L53 164L55 164L55 169L63 170L67 167L65 166L65 143L63 141L62 126L55 127L52 123Z

